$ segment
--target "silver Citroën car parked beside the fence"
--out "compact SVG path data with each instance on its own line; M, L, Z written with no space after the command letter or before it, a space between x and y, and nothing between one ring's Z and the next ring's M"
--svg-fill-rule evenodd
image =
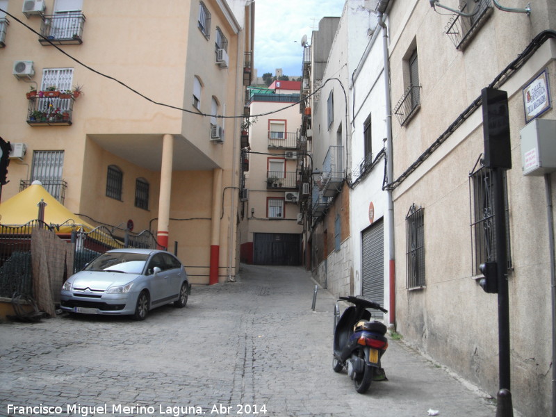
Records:
M65 281L60 307L70 313L133 315L187 304L190 286L176 256L163 250L115 249L101 254Z

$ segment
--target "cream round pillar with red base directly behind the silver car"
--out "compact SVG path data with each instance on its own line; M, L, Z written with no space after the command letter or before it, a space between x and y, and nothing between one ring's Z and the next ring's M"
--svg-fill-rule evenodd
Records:
M162 142L161 191L158 195L158 245L168 247L170 226L170 197L172 194L172 159L174 157L174 136L164 135Z

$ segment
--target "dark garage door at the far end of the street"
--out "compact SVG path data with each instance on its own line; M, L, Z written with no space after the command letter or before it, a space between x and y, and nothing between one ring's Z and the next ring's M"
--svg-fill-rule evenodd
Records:
M300 251L300 234L254 234L253 263L256 265L301 265Z

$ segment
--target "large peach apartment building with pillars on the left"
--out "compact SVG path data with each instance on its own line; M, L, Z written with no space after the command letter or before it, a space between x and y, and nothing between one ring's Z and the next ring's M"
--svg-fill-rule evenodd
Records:
M193 283L233 279L254 3L1 0L0 8L0 136L18 144L2 200L38 179L116 236L152 231Z

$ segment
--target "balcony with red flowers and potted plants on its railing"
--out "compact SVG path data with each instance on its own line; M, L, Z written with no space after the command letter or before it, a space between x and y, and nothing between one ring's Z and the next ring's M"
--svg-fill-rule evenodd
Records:
M73 108L72 95L31 98L27 109L27 124L29 126L71 126Z

